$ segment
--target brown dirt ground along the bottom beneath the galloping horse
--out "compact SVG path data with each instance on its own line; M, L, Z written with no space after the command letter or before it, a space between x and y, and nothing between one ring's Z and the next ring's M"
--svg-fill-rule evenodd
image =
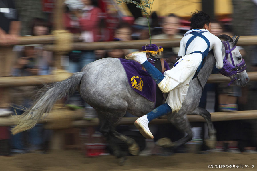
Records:
M53 150L49 154L27 153L0 156L1 171L156 171L156 170L257 170L257 154L210 152L172 156L128 156L124 166L114 156L85 157L80 151ZM208 165L254 165L247 168L208 168Z

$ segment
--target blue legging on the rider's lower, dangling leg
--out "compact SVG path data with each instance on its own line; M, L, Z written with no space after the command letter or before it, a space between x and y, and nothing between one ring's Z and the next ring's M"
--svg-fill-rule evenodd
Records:
M172 109L168 105L168 103L165 103L163 105L160 105L159 107L155 108L154 110L150 111L146 114L148 121L152 121L155 118L161 117L163 115L167 115L170 113Z

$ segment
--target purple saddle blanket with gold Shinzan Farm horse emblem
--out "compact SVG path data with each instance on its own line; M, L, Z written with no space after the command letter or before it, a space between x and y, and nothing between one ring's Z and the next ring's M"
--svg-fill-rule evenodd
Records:
M121 58L119 59L126 71L130 87L146 99L155 102L157 85L148 74L148 72L142 70L142 66L136 61ZM165 68L168 68L167 70L169 70L168 64L166 62L164 63L164 66Z

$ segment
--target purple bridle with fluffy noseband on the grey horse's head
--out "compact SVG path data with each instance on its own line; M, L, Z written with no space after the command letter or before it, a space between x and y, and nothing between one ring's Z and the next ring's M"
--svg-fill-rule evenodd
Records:
M225 58L223 59L223 68L220 70L220 73L226 77L229 77L229 76L233 76L235 74L238 74L240 72L243 72L244 70L246 70L246 63L244 62L244 59L242 58L242 61L237 64L235 66L235 63L234 63L234 60L233 60L233 56L232 56L232 50L234 50L236 48L236 46L234 46L232 49L230 49L230 45L229 45L229 42L228 41L223 41L222 42L225 46L225 50L226 50L226 55L225 55ZM230 58L231 58L231 62L232 64L228 61L228 54L230 54ZM234 81L238 81L240 80L240 78L236 78L234 77L230 83L228 84L228 86L230 84L232 84L232 82Z

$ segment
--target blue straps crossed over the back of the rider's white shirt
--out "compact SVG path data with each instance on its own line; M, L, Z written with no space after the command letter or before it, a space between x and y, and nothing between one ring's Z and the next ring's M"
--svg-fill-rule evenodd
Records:
M190 37L190 38L188 39L188 41L186 42L185 54L186 54L186 50L187 50L189 44L190 44L196 37L201 37L202 39L204 39L204 41L207 43L207 46L208 46L204 52L201 52L201 51L194 51L194 52L191 52L191 53L190 53L190 54L193 54L193 53L200 53L200 54L202 54L202 62L200 63L199 67L197 68L196 73L194 74L193 79L196 78L197 74L200 72L200 69L202 69L202 67L204 66L204 62L203 62L203 61L204 61L205 57L208 55L209 49L210 49L210 42L209 42L209 40L208 40L204 35L202 35L202 33L204 33L204 32L206 32L206 31L202 31L202 32L192 31L190 34L193 34L193 36Z

